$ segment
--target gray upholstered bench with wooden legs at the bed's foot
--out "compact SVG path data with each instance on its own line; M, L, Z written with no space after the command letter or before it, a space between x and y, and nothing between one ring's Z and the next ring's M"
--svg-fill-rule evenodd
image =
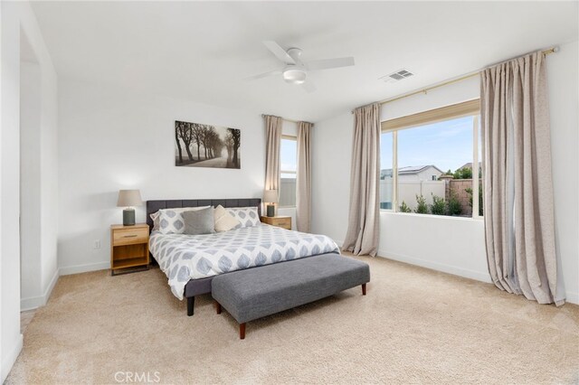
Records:
M338 254L300 258L261 268L234 271L214 277L212 296L217 314L222 306L240 324L308 304L370 281L370 268L364 262Z

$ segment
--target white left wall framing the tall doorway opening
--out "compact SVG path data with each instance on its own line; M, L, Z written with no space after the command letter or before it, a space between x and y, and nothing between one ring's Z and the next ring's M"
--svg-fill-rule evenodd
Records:
M41 69L41 291L50 295L56 270L56 72L43 36L28 3L1 2L2 39L0 66L0 109L2 136L0 153L0 377L8 371L22 349L20 333L20 42L21 29L33 48Z

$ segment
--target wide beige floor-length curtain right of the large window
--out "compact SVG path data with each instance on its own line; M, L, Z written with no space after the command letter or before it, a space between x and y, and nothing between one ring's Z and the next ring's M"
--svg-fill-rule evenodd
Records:
M498 288L562 305L542 52L481 72L485 238Z

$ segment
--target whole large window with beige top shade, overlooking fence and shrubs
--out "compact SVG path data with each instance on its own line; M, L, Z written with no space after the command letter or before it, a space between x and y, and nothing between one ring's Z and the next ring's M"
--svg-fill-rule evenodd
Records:
M478 136L479 100L382 122L380 209L482 215Z

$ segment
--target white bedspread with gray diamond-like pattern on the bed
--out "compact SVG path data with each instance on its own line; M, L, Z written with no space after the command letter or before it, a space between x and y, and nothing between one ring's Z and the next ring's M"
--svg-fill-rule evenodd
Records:
M173 294L183 299L189 279L213 277L243 268L337 252L325 235L289 231L260 223L254 227L206 235L153 231L149 250L169 278Z

